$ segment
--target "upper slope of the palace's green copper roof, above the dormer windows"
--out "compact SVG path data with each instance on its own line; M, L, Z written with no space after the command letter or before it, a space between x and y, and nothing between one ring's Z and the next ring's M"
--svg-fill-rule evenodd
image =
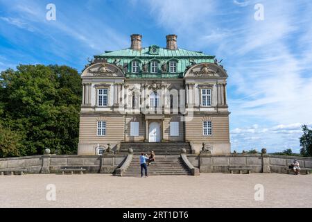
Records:
M214 56L206 55L202 52L197 51L190 51L186 49L177 49L177 50L170 50L165 48L159 48L158 54L153 55L149 53L149 48L142 48L141 50L133 50L133 49L121 49L118 51L107 52L99 55L101 57L147 57L147 58L154 58L154 57L209 57L214 58ZM97 57L97 56L96 56Z

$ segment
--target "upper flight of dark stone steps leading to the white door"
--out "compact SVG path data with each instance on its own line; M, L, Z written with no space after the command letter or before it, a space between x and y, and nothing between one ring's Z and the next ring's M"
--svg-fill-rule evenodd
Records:
M128 149L133 149L134 155L143 153L155 152L155 155L180 155L181 149L185 148L187 153L191 153L191 146L189 142L162 142L162 143L149 143L149 142L121 142L120 154L127 154Z

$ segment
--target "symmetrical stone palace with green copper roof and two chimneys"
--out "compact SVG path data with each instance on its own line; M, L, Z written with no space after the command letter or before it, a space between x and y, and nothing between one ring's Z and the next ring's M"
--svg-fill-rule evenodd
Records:
M183 144L229 154L227 72L215 56L177 47L131 46L94 56L84 69L79 155L100 155L119 144Z

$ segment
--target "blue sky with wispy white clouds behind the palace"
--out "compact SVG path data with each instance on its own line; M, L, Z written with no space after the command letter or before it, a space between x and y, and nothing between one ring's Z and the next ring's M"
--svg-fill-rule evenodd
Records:
M55 4L56 20L46 19ZM254 19L263 6L263 20ZM0 71L19 64L69 65L125 49L177 46L215 55L229 74L232 151L299 152L300 126L312 125L312 2L0 0Z

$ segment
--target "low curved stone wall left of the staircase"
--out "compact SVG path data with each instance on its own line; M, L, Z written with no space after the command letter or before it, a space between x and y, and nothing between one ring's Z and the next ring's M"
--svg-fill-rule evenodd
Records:
M0 159L2 169L27 169L27 173L58 173L62 167L83 167L87 173L114 173L127 155L37 155Z

